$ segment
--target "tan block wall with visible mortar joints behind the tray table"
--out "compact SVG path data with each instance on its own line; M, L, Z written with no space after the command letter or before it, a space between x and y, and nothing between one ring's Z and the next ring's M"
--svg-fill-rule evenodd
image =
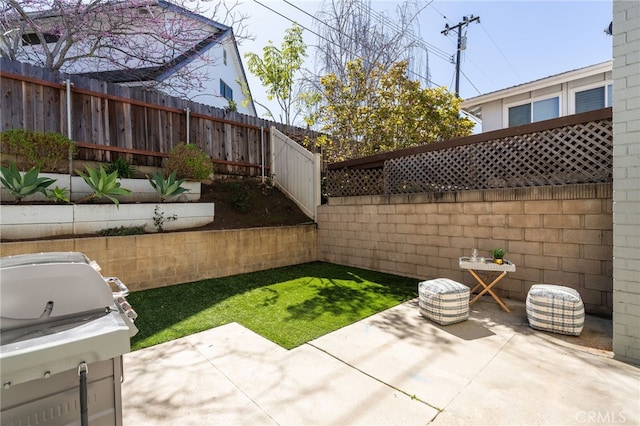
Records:
M524 301L533 284L561 284L580 292L588 312L610 316L612 229L611 184L342 197L318 208L318 254L471 286L458 258L499 246L516 264L502 296Z

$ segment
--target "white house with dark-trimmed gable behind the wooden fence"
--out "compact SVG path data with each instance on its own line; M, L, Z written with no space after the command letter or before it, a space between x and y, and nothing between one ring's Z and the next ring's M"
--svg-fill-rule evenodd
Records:
M254 103L243 102L245 96L238 81L247 88L248 82L231 27L164 0L131 7L137 8L141 17L144 15L141 19L148 19L149 16L158 18L157 25L165 26L167 31L175 33L184 28L184 32L189 33L190 45L183 43L171 46L167 43L165 46L154 42L153 37L145 40L144 35L139 35L137 42L132 44L149 45L148 51L142 55L138 52L127 56L127 47L124 47L119 63L114 63L112 60L105 60L106 55L97 52L91 58L77 60L61 71L130 87L153 87L171 96L218 108L227 108L233 104L238 112L257 116ZM46 19L56 17L49 15ZM55 36L47 36L54 37L48 39L48 42L56 41ZM37 37L23 35L23 45L37 46L39 43ZM27 51L26 60L20 60L33 62L29 60L29 56L34 55L34 52L35 50ZM123 64L126 64L126 68Z

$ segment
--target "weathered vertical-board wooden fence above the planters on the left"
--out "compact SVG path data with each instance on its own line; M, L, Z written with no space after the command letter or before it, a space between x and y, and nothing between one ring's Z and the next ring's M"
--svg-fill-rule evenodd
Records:
M25 128L69 136L70 127L80 160L124 156L131 164L157 167L174 146L189 142L211 157L216 173L259 176L263 160L267 174L271 167L271 126L284 130L269 120L157 91L16 61L0 59L0 70L0 131Z

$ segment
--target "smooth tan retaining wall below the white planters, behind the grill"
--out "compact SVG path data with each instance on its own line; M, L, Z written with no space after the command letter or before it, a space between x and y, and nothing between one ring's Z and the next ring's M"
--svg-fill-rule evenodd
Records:
M318 259L315 225L40 240L0 245L2 256L42 251L82 252L100 264L104 276L120 278L131 291Z

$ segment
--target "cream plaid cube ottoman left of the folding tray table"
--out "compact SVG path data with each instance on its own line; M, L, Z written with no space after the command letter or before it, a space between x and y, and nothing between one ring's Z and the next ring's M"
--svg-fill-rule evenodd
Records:
M469 318L469 287L459 282L437 278L418 283L420 314L441 325Z

